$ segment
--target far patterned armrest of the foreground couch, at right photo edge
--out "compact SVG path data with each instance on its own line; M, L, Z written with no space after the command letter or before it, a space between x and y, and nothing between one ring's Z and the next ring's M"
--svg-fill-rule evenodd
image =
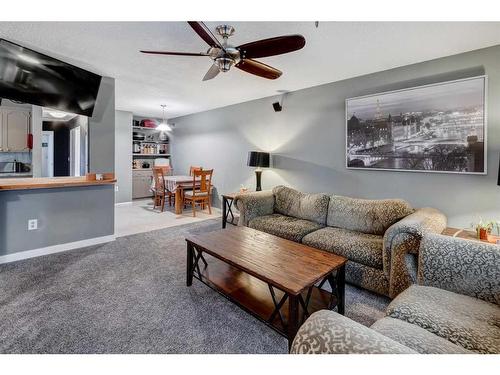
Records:
M425 235L420 246L418 283L500 305L500 246Z

